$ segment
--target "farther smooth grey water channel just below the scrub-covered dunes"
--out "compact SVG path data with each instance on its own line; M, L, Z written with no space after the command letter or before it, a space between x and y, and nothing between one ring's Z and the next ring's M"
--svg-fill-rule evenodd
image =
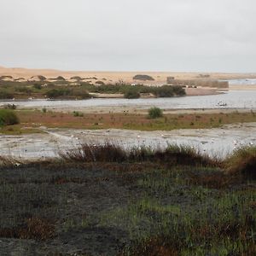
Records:
M219 106L220 102L226 106ZM16 104L21 108L91 108L91 107L136 107L150 108L152 106L169 109L187 108L248 108L256 109L256 90L230 90L212 96L184 96L173 98L150 99L90 99L82 101L5 101L4 104Z

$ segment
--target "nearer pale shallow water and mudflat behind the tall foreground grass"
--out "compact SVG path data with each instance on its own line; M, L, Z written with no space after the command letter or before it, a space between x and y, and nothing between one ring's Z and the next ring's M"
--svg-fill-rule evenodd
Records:
M18 159L47 159L58 157L61 150L70 150L79 147L81 143L102 144L113 142L125 148L134 145L151 145L166 147L169 144L184 143L201 149L207 154L221 151L224 155L230 154L234 148L234 141L239 141L238 146L255 143L256 123L230 124L218 128L204 129L178 129L172 131L137 131L125 129L69 129L69 128L42 128L44 133L27 134L19 136L0 136L2 156ZM229 132L226 132L229 131ZM246 134L249 134L246 137ZM31 142L34 143L31 143ZM236 146L236 145L235 145ZM60 149L61 148L61 149ZM221 148L221 150L220 150Z

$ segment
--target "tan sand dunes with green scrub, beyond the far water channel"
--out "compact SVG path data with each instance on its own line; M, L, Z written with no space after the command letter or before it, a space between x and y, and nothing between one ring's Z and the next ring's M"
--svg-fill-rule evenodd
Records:
M63 72L0 67L0 99L199 96L227 90L231 74ZM234 75L233 75L234 76ZM231 76L232 77L232 76ZM159 89L159 87L163 87Z

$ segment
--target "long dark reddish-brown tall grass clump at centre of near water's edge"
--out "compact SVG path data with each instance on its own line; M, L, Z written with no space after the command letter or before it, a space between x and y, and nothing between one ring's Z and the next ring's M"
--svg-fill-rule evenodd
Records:
M158 161L172 165L216 166L216 160L200 154L189 146L169 145L167 148L134 147L124 149L114 143L84 143L80 148L60 152L64 160L82 162Z

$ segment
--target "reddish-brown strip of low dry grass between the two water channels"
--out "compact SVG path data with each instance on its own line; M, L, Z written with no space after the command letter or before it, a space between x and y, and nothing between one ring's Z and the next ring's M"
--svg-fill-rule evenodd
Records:
M195 129L220 127L224 124L255 122L256 114L248 113L191 113L167 114L160 119L148 119L148 114L138 113L71 113L47 111L16 111L20 125L9 125L3 133L20 134L38 132L44 125L49 128L73 129L131 129L140 131L172 131L174 129Z

